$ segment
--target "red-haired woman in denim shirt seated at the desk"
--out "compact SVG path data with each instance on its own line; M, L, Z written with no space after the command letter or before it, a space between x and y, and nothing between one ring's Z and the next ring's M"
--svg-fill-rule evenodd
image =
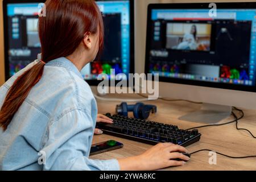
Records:
M92 0L48 0L39 17L42 58L0 88L0 169L153 170L181 166L184 147L158 144L139 156L89 159L96 100L80 71L103 45L101 12ZM40 160L38 160L40 159Z

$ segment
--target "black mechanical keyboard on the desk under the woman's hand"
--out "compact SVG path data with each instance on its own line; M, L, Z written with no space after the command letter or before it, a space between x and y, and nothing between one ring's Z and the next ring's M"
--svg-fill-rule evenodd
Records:
M181 130L175 125L167 125L143 119L127 118L122 115L105 114L113 119L113 124L97 123L97 128L105 134L135 140L147 144L171 142L188 146L200 140L198 130Z

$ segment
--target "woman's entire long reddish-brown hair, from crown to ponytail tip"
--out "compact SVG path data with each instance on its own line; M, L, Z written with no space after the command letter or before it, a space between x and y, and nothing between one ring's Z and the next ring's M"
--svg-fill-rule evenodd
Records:
M100 27L100 28L98 28ZM42 47L42 61L71 55L86 33L99 32L99 47L103 47L104 26L101 12L93 0L47 0L46 16L39 17L38 32ZM7 129L15 113L32 87L43 75L44 64L39 61L16 78L0 110L0 126Z

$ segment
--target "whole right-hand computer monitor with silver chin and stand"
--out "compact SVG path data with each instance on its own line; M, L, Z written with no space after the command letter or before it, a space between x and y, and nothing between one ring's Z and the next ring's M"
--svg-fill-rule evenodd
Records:
M159 74L160 96L205 103L183 120L214 123L231 106L256 109L256 3L215 5L148 6L145 72Z

